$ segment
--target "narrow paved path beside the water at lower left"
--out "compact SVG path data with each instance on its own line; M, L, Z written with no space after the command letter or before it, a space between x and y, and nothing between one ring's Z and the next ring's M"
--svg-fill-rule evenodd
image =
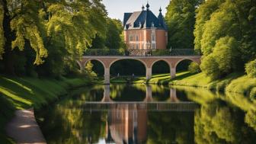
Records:
M34 117L34 110L17 110L7 126L8 136L20 143L46 144Z

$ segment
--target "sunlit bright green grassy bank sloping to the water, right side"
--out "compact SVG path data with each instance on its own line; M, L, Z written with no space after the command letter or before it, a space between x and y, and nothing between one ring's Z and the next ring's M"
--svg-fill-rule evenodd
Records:
M149 83L202 87L215 91L246 94L251 98L256 96L256 78L249 78L243 73L232 73L225 78L211 81L203 73L193 75L189 72L179 72L176 78L170 78L169 74L153 75Z

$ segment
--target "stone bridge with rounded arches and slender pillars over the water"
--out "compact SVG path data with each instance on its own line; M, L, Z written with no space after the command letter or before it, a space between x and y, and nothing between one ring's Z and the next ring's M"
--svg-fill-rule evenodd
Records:
M104 84L110 84L110 67L114 64L114 62L122 59L135 59L142 62L146 68L147 80L152 78L152 66L155 64L155 62L167 62L170 68L171 78L175 77L176 67L178 66L179 62L186 59L197 62L198 64L201 62L201 56L83 56L82 59L78 60L77 62L80 66L80 70L83 70L85 68L85 64L90 60L97 60L98 62L101 62L101 64L104 66Z

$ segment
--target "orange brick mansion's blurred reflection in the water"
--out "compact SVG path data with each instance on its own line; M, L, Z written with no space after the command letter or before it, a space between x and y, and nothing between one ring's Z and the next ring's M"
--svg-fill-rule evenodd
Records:
M137 104L120 104L108 112L106 142L146 141L147 110Z

